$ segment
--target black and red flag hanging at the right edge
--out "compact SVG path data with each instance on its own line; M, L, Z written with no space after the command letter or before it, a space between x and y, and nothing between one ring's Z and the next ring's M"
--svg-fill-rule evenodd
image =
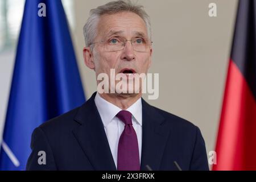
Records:
M213 170L256 170L256 1L238 3Z

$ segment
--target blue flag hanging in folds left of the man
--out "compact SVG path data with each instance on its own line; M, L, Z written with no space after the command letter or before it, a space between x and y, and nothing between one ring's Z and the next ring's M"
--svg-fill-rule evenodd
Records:
M60 0L27 0L7 107L1 170L24 170L32 131L85 102Z

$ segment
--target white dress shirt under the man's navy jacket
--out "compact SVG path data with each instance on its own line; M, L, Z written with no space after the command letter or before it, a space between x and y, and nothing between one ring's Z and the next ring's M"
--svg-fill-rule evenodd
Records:
M117 167L117 151L119 137L125 129L125 123L118 119L115 115L122 109L104 100L100 94L96 94L94 98L95 104L100 113L101 120L104 125L106 137L108 138L109 147L112 152L112 156ZM131 105L127 111L132 114L131 121L133 122L134 130L137 134L139 144L139 162L141 162L141 146L142 146L142 103L141 98Z

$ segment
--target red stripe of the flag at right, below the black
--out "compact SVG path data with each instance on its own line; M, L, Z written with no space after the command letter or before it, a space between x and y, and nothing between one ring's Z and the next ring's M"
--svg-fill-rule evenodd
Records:
M230 60L213 170L256 170L256 103L245 78Z

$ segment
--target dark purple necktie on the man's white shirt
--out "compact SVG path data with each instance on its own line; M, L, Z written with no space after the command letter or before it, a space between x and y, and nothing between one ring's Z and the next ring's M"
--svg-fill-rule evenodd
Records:
M117 152L117 170L118 171L139 171L139 147L138 140L133 123L131 122L131 113L126 110L119 111L117 117L125 123L125 129L119 138Z

